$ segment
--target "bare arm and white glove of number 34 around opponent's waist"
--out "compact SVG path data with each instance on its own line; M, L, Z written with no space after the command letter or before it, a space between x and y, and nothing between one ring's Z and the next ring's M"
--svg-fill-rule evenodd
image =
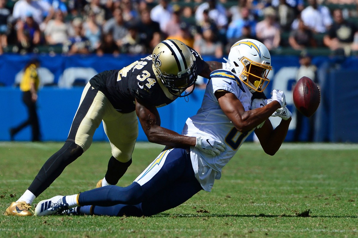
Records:
M136 100L136 113L148 140L165 146L195 146L199 150L215 156L223 152L225 144L211 137L190 137L160 126L160 116L154 106L147 106ZM209 142L207 142L209 141Z

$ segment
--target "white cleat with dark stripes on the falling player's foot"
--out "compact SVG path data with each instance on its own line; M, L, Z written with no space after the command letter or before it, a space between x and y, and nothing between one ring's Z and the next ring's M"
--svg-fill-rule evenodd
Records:
M64 196L55 196L53 198L42 200L35 208L35 216L49 216L60 214L68 210L68 204Z

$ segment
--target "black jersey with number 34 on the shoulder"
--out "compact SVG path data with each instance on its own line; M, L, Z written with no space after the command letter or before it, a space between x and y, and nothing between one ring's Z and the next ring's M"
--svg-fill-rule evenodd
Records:
M204 60L197 51L191 50L197 64L197 74L200 74L204 68ZM89 83L103 92L113 107L122 113L135 111L135 98L155 107L168 105L177 96L172 95L163 85L154 69L152 56L149 55L121 70L97 74Z

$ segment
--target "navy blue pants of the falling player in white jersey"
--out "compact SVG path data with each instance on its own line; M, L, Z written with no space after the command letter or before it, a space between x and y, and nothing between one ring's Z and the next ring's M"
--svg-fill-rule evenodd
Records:
M94 205L93 214L107 216L151 216L179 206L202 187L195 178L190 153L183 148L162 153L167 152L159 171L142 186L133 182L127 187L96 188L80 193L78 203Z

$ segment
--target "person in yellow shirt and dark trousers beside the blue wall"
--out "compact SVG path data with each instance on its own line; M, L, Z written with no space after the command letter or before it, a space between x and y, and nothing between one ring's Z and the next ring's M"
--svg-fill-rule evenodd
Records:
M37 92L40 79L37 69L40 62L37 59L30 60L24 67L24 75L20 83L20 90L23 92L23 102L28 108L29 117L17 127L10 129L10 138L13 141L14 136L27 126L32 128L32 141L40 141L40 127L36 111Z

